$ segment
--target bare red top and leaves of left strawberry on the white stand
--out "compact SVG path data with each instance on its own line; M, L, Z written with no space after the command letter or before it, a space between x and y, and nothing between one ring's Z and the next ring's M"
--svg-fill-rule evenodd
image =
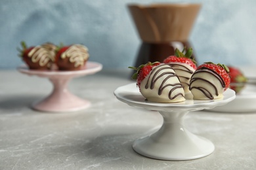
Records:
M137 72L134 73L132 78L134 80L137 80L137 86L140 88L140 83L142 80L150 73L152 70L152 67L160 65L160 62L156 61L154 63L148 62L146 64L140 65L138 68L137 67L129 67L130 69L135 69Z

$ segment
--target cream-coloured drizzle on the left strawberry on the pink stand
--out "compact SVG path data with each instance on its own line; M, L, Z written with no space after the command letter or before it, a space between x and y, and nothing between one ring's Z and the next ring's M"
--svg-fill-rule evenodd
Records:
M31 58L33 63L39 63L41 67L47 65L51 67L52 62L54 61L54 54L49 52L43 46L35 46L29 53L28 57Z

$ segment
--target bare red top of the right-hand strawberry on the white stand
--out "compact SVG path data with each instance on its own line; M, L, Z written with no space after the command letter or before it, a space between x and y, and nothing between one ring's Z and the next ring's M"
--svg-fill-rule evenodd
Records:
M206 63L203 63L202 65L198 66L198 69L201 69L203 67L211 69L212 71L215 71L215 73L217 73L218 75L221 76L221 78L224 80L224 84L225 84L224 91L229 87L230 76L228 74L229 69L228 69L228 67L226 67L226 65L220 64L220 63L215 64L212 62L206 62Z

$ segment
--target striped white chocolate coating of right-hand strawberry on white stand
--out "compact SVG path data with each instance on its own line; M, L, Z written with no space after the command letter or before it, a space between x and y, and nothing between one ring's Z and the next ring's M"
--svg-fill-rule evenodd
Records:
M191 77L190 91L194 99L219 99L223 97L223 80L210 69L200 69Z

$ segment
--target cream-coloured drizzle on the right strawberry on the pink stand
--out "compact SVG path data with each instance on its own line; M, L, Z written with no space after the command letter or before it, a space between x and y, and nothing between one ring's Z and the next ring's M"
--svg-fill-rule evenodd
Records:
M85 61L89 58L88 48L81 44L74 44L70 46L60 56L62 59L70 58L70 62L74 63L74 67L79 67L85 64Z

